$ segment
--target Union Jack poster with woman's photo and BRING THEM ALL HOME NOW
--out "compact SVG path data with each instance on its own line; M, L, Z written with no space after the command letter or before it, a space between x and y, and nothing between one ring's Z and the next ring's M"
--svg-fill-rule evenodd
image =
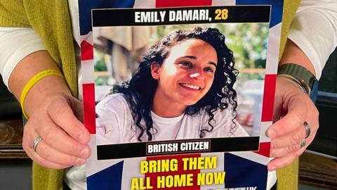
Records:
M88 189L268 189L282 8L80 0Z

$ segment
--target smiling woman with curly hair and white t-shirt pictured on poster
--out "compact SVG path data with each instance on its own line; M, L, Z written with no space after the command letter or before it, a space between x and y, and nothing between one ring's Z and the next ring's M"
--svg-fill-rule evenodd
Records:
M97 104L98 144L248 136L235 120L237 73L218 29L167 34Z

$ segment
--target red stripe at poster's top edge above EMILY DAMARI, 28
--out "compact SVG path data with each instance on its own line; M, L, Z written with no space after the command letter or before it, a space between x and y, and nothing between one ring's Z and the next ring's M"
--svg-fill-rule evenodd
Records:
M211 6L212 0L167 1L156 0L156 8L177 6Z

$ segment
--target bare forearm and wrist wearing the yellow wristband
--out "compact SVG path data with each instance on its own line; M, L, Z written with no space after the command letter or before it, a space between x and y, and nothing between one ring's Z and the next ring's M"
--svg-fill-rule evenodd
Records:
M20 100L22 89L25 84L37 73L42 70L55 69L59 70L56 63L49 56L48 51L37 51L23 58L14 68L9 77L9 88L17 99ZM71 96L70 90L61 77L50 75L39 80L29 90L24 108L27 115L41 105L41 102L48 100L51 94L62 93Z

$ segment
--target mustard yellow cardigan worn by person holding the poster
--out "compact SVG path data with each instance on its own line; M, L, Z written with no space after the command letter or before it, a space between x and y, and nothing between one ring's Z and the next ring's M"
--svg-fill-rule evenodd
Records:
M280 55L286 34L300 0L284 0ZM73 96L77 97L77 68L74 39L67 0L0 0L1 27L32 27L65 75ZM51 170L33 163L33 189L62 190L65 170ZM277 171L277 189L298 189L298 159Z

